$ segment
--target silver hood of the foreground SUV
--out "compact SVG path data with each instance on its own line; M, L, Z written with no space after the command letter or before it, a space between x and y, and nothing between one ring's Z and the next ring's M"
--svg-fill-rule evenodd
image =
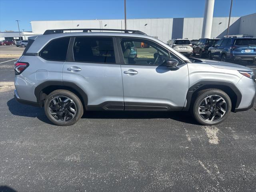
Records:
M252 71L251 68L248 68L248 67L242 66L242 65L238 65L238 64L234 64L234 63L228 63L228 62L216 61L216 60L207 60L207 59L201 59L201 60L202 60L202 64L209 64L216 68Z

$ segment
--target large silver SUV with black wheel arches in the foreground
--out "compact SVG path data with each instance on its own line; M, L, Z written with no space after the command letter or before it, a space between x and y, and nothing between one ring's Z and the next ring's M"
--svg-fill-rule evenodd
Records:
M44 107L60 126L86 110L190 110L200 124L215 125L254 104L250 68L189 59L140 31L92 31L30 37L15 63L15 98Z

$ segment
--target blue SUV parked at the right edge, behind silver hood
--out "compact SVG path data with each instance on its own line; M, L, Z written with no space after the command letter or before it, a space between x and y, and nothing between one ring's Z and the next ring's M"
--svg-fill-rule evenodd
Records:
M256 60L256 38L227 37L218 40L208 49L208 58L221 61L247 61Z

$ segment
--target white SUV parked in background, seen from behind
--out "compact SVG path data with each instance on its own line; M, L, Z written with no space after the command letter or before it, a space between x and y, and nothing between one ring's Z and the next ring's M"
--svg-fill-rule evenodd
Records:
M188 39L173 39L168 45L186 56L190 56L193 52L192 44Z

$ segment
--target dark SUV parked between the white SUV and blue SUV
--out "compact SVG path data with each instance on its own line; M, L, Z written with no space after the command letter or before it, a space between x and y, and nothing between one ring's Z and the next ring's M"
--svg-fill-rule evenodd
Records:
M200 58L207 56L208 48L213 46L220 39L202 38L193 46L193 56L199 54Z

